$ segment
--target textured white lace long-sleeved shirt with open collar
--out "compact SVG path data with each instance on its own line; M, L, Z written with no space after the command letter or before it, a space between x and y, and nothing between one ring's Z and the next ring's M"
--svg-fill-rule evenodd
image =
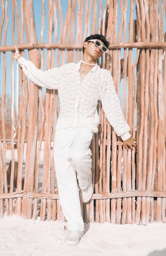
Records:
M122 140L131 137L129 125L125 122L116 94L113 78L109 70L96 64L80 82L78 63L68 63L61 67L42 71L33 62L20 57L18 63L26 76L36 85L48 89L57 89L61 111L55 130L86 126L98 132L98 112L96 106L101 100L107 120Z

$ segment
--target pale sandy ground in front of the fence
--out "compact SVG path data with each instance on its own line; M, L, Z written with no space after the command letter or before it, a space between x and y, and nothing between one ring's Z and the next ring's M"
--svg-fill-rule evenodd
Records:
M57 221L0 219L0 256L166 256L166 224L90 223L76 246Z

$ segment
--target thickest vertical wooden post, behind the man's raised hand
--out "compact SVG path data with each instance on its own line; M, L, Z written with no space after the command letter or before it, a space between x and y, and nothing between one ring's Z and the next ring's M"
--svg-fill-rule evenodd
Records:
M26 24L27 42L37 42L35 32L35 20L33 15L33 0L24 1L24 13ZM33 61L37 68L40 67L39 50L29 50L29 59ZM29 102L28 102L28 134L27 134L27 151L26 151L26 173L24 189L27 192L33 192L34 170L37 147L37 120L38 120L38 87L30 82ZM32 198L23 198L22 208L26 219L32 217Z

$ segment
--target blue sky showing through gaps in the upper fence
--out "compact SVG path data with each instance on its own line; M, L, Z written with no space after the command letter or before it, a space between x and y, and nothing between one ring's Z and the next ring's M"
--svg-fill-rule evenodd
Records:
M6 45L12 45L12 37L11 37L11 24L12 24L11 1L12 0L8 1L8 9L7 9L9 20L8 20L8 28L7 28L7 41L6 41ZM21 0L17 0L19 18L20 18L20 2L21 2ZM118 1L118 2L120 3L120 1ZM118 3L118 17L120 17L120 4L119 3ZM93 1L92 1L92 4L93 4ZM36 26L36 32L37 32L37 41L40 42L41 19L42 19L42 1L41 0L34 0L33 1L33 6L34 6L34 15L35 15L35 26ZM47 36L48 36L48 1L47 0L45 0L44 6L45 6L45 22L44 22L44 38L43 38L43 42L47 43ZM65 17L66 17L66 12L67 12L67 8L68 8L68 0L61 0L61 6L62 6L63 24L64 24ZM102 16L103 16L104 6L105 6L105 0L102 0ZM78 6L77 6L77 2L76 2L76 13L77 13L77 9L78 9ZM97 16L98 16L98 11L99 11L99 0L97 1ZM0 6L0 19L1 19L1 17L2 17L2 8ZM136 13L135 13L135 17L134 18L136 19ZM58 20L58 24L59 24L59 22L60 22L59 15L57 15L57 20ZM84 16L83 16L83 21L84 20L85 20L85 13L84 13ZM77 22L77 20L76 20L76 22ZM92 15L91 15L90 23L91 22L92 22ZM118 28L119 28L119 24L120 24L120 19L118 19ZM128 1L128 7L127 7L127 26L128 26L128 24L129 24L129 1ZM98 24L96 22L96 28L97 28L97 25ZM5 22L4 22L3 31L2 31L1 46L3 45L3 41L4 41L4 38L3 38L4 28L5 28ZM57 43L59 43L59 33L60 33L59 29L60 29L60 26L58 26L57 29L58 29L58 32L57 32ZM76 31L76 24L75 24L75 31ZM91 32L91 28L90 28L90 32ZM127 33L127 40L128 40L128 33ZM76 33L75 33L75 40L74 41L76 41ZM83 41L83 38L82 38L82 41ZM123 41L123 39L122 39L122 41ZM24 42L26 42L26 31L24 33ZM16 22L15 22L15 43L17 43L17 26L16 26ZM54 66L55 67L56 67L56 54L57 54L57 50L55 52L55 61L54 61ZM44 50L44 55L46 56L46 50ZM123 58L123 49L121 50L121 56ZM28 59L28 51L27 50L25 50L25 57L26 57L26 59ZM6 59L7 59L6 93L7 94L11 94L11 70L10 70L11 52L6 52ZM14 61L15 73L16 73L16 66L17 66L17 63ZM3 67L4 67L3 53L1 52L1 54L0 54L0 95L2 95ZM45 69L46 69L46 61L44 63L44 70Z

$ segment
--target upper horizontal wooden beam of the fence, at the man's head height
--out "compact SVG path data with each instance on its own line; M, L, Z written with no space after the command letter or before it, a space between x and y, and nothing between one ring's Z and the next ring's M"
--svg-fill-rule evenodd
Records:
M19 50L31 49L59 49L59 50L81 50L79 44L47 44L47 43L25 43L17 45ZM139 43L119 43L110 44L109 49L118 48L166 48L166 42L139 42ZM0 52L15 51L15 45L6 45L0 47Z

